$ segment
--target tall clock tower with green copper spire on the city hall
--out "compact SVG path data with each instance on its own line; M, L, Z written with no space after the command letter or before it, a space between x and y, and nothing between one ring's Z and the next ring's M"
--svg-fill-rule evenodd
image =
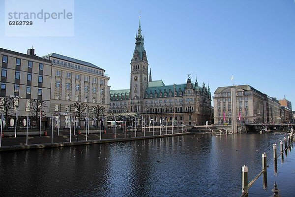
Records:
M143 100L148 88L148 59L144 48L140 17L135 49L130 63L130 112L143 113Z

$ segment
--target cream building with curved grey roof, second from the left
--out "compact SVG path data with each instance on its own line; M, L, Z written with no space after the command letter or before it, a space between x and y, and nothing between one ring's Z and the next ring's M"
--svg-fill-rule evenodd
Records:
M42 58L52 62L50 112L55 116L55 120L60 119L60 128L70 127L70 116L77 111L73 106L76 102L88 105L82 114L83 120L89 116L89 125L97 125L92 107L103 106L105 112L109 108L110 78L105 74L105 70L89 62L56 53ZM57 125L58 121L55 124Z

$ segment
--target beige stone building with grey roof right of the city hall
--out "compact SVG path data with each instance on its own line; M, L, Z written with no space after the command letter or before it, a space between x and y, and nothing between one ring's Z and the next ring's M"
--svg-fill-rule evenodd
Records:
M231 94L234 89L235 95ZM239 123L280 123L280 104L249 85L218 87L214 92L214 124L232 123L236 114Z

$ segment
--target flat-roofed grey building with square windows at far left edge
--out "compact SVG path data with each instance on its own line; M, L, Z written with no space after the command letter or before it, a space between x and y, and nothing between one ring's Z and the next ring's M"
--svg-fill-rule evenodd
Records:
M51 61L37 57L34 49L29 49L27 54L0 48L1 90L0 107L6 112L6 124L14 127L16 111L18 111L18 126L27 125L27 115L35 116L33 106L42 100L44 105L50 106L51 89ZM10 99L8 99L10 98ZM11 103L11 100L13 102ZM42 125L48 125L47 115L50 109L43 109ZM39 113L40 114L40 113ZM32 119L30 126L37 125Z

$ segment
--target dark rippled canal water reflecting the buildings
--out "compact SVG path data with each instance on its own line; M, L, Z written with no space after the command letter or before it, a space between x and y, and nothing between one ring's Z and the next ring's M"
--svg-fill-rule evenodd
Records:
M269 197L274 181L282 196L293 196L295 151L288 151L283 163L279 158L274 174L272 144L283 138L278 134L192 134L1 152L0 196L239 197L241 166L248 166L250 182L262 169L264 152L268 187L263 189L261 176L249 196Z

